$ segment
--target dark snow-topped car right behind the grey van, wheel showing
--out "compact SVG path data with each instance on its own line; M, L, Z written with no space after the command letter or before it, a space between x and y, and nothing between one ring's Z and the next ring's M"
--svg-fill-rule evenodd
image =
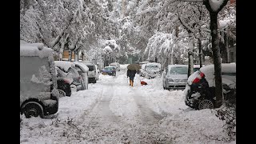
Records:
M73 78L67 78L66 73L55 66L58 90L60 97L71 96L71 86L73 84Z

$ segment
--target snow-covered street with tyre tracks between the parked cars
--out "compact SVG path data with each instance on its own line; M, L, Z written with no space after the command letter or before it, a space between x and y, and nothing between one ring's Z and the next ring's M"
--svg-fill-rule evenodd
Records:
M183 91L163 90L160 76L136 74L129 86L126 66L115 77L100 74L89 90L60 98L57 114L21 115L20 143L236 143L226 141L214 110L186 106Z

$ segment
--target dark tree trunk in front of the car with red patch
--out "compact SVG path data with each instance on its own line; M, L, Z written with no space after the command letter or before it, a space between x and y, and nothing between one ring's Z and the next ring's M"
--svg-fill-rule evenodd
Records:
M218 12L210 12L210 34L212 37L212 50L214 56L214 75L215 75L215 96L216 107L222 106L222 66L221 54L219 50L218 38L218 25L217 25Z

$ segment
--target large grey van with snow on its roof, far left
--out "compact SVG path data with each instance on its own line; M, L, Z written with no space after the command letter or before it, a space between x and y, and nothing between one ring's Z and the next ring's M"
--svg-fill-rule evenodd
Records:
M44 118L58 112L59 92L53 50L42 43L20 43L20 113Z

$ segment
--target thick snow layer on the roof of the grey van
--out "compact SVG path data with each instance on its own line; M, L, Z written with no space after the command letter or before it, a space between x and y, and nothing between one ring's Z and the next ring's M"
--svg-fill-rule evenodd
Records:
M53 50L42 43L20 43L20 56L45 58L53 55Z

